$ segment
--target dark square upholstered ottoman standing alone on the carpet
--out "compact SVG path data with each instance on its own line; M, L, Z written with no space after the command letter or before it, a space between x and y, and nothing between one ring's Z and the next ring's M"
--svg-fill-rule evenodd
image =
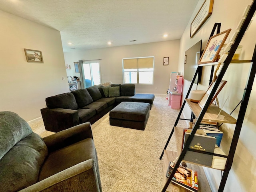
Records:
M110 111L109 123L118 127L145 130L149 111L149 103L121 102Z

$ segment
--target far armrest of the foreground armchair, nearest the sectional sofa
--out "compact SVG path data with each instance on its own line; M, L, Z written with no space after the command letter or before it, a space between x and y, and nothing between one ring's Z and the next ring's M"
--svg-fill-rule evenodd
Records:
M68 128L58 133L44 137L43 140L49 152L69 146L86 138L92 138L90 122Z

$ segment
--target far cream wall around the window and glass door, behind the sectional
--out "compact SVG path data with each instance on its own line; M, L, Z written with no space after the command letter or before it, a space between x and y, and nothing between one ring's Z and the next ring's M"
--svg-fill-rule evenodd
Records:
M122 58L154 56L154 85L136 84L136 92L165 94L169 87L170 72L177 71L180 40L101 48L85 51L65 52L65 63L71 66L67 76L80 76L74 71L78 60L100 60L101 82L111 81L122 84ZM163 65L164 57L169 57L169 65ZM157 89L156 89L157 88Z

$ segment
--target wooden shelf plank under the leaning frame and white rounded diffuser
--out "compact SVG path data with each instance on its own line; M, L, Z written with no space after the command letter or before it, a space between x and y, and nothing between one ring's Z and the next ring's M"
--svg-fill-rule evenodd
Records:
M189 99L185 99L188 106L192 110L193 114L198 118L202 108L198 105L198 103L191 102ZM204 114L204 117L202 120L205 121L215 121L219 123L230 123L230 124L236 124L236 119L224 112L223 110L220 112L221 115L225 116L223 120L217 119L217 116L220 112L220 108L218 108L216 105L211 104L211 106L208 108L206 113Z

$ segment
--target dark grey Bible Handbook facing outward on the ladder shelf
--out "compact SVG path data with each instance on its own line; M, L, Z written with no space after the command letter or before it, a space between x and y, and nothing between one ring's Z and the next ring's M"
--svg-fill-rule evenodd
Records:
M190 136L190 133L185 132L183 147L185 146L189 136ZM195 134L192 141L190 142L189 148L213 153L215 149L215 145L216 145L215 137L202 135L202 134ZM209 167L212 166L212 159L213 159L213 155L197 153L192 151L187 151L183 158L184 161L201 164Z

